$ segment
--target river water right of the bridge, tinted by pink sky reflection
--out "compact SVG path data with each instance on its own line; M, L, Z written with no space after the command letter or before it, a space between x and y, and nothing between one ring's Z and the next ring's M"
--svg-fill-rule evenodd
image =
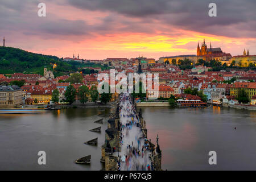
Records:
M220 107L207 109L142 107L148 138L162 150L162 168L174 170L256 169L256 112ZM237 130L234 130L237 127ZM218 165L208 164L215 150Z

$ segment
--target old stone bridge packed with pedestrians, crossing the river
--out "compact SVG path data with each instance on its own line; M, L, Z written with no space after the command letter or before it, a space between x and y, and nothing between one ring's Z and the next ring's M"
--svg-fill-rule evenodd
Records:
M161 170L162 152L156 138L156 146L147 139L146 121L142 110L130 94L121 94L112 104L101 147L101 162L106 171Z

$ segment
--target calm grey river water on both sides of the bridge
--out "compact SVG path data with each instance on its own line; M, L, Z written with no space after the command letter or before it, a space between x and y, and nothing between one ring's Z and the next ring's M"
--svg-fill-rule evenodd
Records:
M109 109L63 109L41 114L0 115L0 170L100 170L104 124L93 123ZM167 170L256 170L256 111L210 107L143 107L148 138L159 134L162 168ZM90 129L102 126L101 133ZM236 127L236 130L234 130ZM84 144L98 137L98 146ZM208 152L217 152L209 165ZM38 164L46 151L46 165ZM90 165L74 161L92 155Z

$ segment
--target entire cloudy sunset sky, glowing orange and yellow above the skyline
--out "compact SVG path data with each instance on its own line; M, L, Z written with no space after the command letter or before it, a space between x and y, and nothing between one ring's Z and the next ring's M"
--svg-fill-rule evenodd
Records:
M46 17L38 4L46 3ZM217 17L208 5L217 5ZM80 59L196 54L205 38L232 56L256 55L255 0L1 0L6 46ZM2 40L1 40L2 45Z

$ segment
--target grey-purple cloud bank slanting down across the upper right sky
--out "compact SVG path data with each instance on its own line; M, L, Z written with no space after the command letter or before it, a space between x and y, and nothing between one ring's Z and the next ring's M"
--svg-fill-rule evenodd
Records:
M129 17L158 19L170 26L221 36L255 37L255 0L67 0L84 10L115 12ZM208 5L217 4L217 17ZM241 28L246 27L244 32Z

